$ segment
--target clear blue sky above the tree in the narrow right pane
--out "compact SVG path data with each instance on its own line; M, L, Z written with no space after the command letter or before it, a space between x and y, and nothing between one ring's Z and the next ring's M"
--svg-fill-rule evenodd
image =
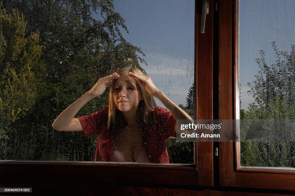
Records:
M295 1L240 1L239 70L241 108L247 109L253 98L248 95L248 82L258 72L255 59L261 49L269 64L275 63L272 42L280 51L291 51L295 44Z

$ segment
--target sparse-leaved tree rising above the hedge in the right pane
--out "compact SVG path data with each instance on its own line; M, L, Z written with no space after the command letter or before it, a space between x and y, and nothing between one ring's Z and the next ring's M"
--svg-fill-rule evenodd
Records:
M295 45L291 46L291 53L279 51L276 42L272 42L276 62L268 65L265 51L260 50L260 58L256 59L258 73L255 74L255 81L248 83L250 90L248 93L253 96L255 103L252 107L262 105L265 108L263 119L269 119L272 109L269 104L277 98L286 100L286 104L295 101ZM291 109L291 108L290 108ZM294 108L292 109L294 110ZM294 119L294 115L290 116Z

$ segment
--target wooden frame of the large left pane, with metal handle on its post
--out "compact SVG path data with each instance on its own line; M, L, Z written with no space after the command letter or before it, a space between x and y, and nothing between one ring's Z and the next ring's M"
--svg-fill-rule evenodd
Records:
M207 15L206 33L201 34L201 3L200 0L195 2L198 8L195 9L194 38L195 117L212 119L213 14ZM210 4L210 10L213 10L213 4ZM5 186L16 183L104 182L132 185L213 186L213 142L200 142L194 145L194 157L194 164L191 165L1 160L0 184Z

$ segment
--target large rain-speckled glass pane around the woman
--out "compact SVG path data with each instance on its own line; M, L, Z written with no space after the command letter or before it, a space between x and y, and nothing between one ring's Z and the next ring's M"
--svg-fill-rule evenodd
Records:
M192 0L1 4L0 159L94 161L97 135L57 131L52 123L99 78L125 66L150 76L159 90L194 118L194 7ZM75 117L109 105L110 86ZM136 83L132 88L139 92ZM149 138L139 137L117 136L110 148L117 146L119 155L128 151L133 158L140 157ZM170 163L193 163L193 143L175 140L166 142ZM165 142L157 149L163 147ZM122 158L135 161L131 155Z

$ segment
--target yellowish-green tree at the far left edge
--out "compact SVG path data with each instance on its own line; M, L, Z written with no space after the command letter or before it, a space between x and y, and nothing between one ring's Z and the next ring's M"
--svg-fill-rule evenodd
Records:
M0 139L8 139L7 126L26 115L36 98L32 69L39 66L42 46L39 32L25 38L25 28L17 10L0 9Z

